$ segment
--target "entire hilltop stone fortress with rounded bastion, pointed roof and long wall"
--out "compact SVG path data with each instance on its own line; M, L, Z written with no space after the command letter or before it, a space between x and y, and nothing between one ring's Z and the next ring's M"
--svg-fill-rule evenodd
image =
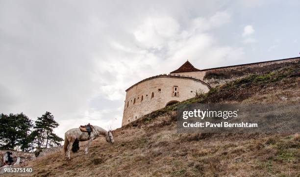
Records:
M265 67L280 68L286 62L299 62L300 57L264 61L200 70L186 61L170 74L152 76L126 90L122 126L169 104L206 93L211 87L250 73L259 73Z

